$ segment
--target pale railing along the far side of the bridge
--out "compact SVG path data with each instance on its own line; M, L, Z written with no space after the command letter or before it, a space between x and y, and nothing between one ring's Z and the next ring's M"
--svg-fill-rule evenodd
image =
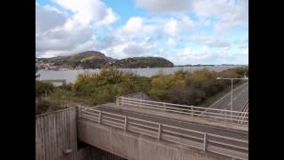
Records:
M231 111L217 108L201 108L153 100L138 100L127 97L117 97L116 105L136 108L148 108L164 112L185 114L189 116L200 116L205 118L230 121L234 123L248 124L248 113L240 111ZM246 116L243 116L244 114Z

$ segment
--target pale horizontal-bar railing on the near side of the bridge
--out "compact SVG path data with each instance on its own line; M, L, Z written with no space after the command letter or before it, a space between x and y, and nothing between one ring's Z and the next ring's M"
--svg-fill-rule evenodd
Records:
M198 148L224 156L248 159L248 140L233 139L169 124L159 124L94 108L80 107L78 110L79 118L90 120L96 124L103 124L125 132L134 132L157 140L170 141L181 146Z

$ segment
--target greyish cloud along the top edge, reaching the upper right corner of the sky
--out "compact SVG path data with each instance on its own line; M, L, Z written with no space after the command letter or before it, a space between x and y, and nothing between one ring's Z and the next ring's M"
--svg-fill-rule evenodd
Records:
M201 20L216 17L219 21L215 22L214 28L218 33L248 22L248 0L136 0L136 5L150 13L193 12ZM209 25L210 22L202 23Z

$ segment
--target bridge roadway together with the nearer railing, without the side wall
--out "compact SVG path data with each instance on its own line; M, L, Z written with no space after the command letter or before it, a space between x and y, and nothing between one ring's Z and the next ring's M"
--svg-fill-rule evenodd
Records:
M87 118L95 124L136 132L182 146L208 148L209 152L223 156L248 159L248 132L246 131L150 116L106 105L90 109L83 108L80 113L83 114L80 117Z

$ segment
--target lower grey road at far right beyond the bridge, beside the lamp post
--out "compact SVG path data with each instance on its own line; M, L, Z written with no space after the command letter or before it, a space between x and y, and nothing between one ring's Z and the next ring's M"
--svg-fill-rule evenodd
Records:
M248 83L241 84L233 90L233 111L241 111L248 100ZM209 108L231 110L231 91L214 102Z

